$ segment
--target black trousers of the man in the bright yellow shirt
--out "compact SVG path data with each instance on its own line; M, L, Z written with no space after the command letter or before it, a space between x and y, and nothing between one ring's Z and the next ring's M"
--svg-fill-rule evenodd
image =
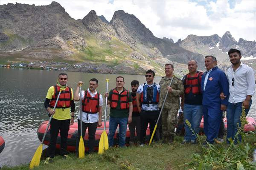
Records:
M53 119L50 122L50 143L49 147L47 150L47 156L53 158L55 155L55 149L56 149L56 141L58 137L59 130L61 130L61 150L60 150L60 155L64 156L68 154L67 151L67 135L68 135L68 130L70 126L70 119L67 120L58 120L58 119Z

